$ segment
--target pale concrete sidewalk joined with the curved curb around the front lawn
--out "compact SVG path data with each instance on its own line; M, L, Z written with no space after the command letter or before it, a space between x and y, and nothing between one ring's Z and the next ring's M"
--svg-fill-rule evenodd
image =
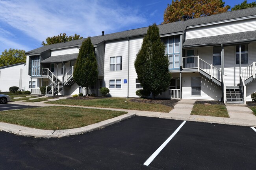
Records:
M185 104L186 101L180 102L180 104ZM190 101L195 102L195 101ZM124 119L129 119L132 116L147 116L147 117L158 117L163 119L175 119L175 120L182 120L182 121L195 121L195 122L208 122L208 123L218 123L218 124L230 124L230 125L238 125L238 126L252 126L256 127L256 119L236 119L236 118L224 118L224 117L210 117L210 116L199 116L199 115L190 115L190 112L187 111L187 107L179 108L174 106L175 112L170 113L161 113L161 112L148 112L148 111L139 111L139 110L125 110L125 109L113 109L113 108L95 108L95 107L85 107L85 106L70 106L70 105L61 105L61 104L46 104L43 102L23 102L23 101L16 101L15 104L22 104L22 105L29 105L29 106L65 106L65 107L79 107L79 108L93 108L93 109L102 109L102 110L115 110L115 111L124 111L128 112L125 115L121 115L119 117L115 117L106 121L98 122L95 124L91 124L89 126L75 128L75 129L68 129L68 130L40 130L35 128L27 128L24 126L18 126L13 124L7 123L0 123L0 130L4 130L7 132L12 132L19 135L26 135L26 136L34 136L34 137L64 137L69 135L77 135L81 133L91 132L93 130L97 130L100 128L104 128L111 124L115 124L120 122ZM187 103L188 104L188 103ZM189 103L192 104L192 103ZM193 107L193 105L192 105ZM191 109L191 106L189 107ZM189 112L189 114L188 114ZM253 115L254 116L254 115ZM255 117L255 116L254 116Z

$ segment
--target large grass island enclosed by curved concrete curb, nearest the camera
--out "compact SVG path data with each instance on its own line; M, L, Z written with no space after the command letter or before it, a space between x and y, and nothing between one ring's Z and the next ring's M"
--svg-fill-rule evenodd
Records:
M0 112L0 122L45 130L87 126L126 114L126 112L64 106L28 108Z

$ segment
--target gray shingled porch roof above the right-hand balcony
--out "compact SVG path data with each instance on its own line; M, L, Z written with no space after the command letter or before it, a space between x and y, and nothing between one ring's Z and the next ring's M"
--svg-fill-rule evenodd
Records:
M183 43L183 48L216 46L221 44L231 45L237 43L249 43L254 41L256 41L256 31L247 31L243 33L188 39L185 40L185 42Z

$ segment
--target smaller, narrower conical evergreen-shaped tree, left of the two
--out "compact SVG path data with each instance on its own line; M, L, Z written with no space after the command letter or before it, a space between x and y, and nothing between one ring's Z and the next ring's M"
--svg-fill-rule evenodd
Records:
M98 65L91 38L86 38L78 53L77 62L74 67L73 77L75 82L84 88L88 94L88 88L98 80Z

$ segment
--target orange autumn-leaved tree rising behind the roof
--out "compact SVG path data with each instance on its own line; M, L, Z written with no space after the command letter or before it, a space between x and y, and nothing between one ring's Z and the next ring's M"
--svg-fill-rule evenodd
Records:
M222 0L172 0L164 11L162 24L224 13L230 9Z

